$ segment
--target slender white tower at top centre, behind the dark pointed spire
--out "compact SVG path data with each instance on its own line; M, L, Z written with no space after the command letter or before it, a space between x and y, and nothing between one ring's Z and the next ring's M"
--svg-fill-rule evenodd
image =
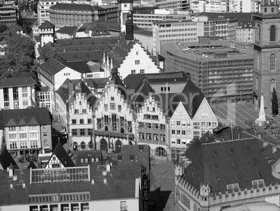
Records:
M120 33L125 32L125 23L127 14L132 14L133 19L133 0L118 0L118 23L120 24Z

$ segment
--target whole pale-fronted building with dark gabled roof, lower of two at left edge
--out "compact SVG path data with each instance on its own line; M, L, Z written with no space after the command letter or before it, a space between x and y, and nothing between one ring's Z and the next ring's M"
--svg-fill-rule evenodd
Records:
M7 150L14 156L52 150L52 119L46 108L2 110Z

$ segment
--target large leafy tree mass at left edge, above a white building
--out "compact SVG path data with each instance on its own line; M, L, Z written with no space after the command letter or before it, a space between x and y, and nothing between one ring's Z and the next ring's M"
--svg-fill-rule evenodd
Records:
M6 56L0 59L0 78L36 78L31 71L35 59L35 43L10 30L3 31L0 38L7 42Z

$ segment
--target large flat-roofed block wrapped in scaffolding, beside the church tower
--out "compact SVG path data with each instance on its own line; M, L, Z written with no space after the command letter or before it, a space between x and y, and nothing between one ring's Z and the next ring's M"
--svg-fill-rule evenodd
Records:
M211 103L252 101L253 49L231 41L162 43L165 71L185 71ZM186 71L187 70L187 71Z

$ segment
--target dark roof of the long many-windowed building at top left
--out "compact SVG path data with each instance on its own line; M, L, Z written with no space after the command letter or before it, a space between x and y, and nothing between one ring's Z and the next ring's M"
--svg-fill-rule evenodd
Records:
M81 3L56 3L54 6L49 8L50 10L102 10L99 6L91 6L89 4Z

